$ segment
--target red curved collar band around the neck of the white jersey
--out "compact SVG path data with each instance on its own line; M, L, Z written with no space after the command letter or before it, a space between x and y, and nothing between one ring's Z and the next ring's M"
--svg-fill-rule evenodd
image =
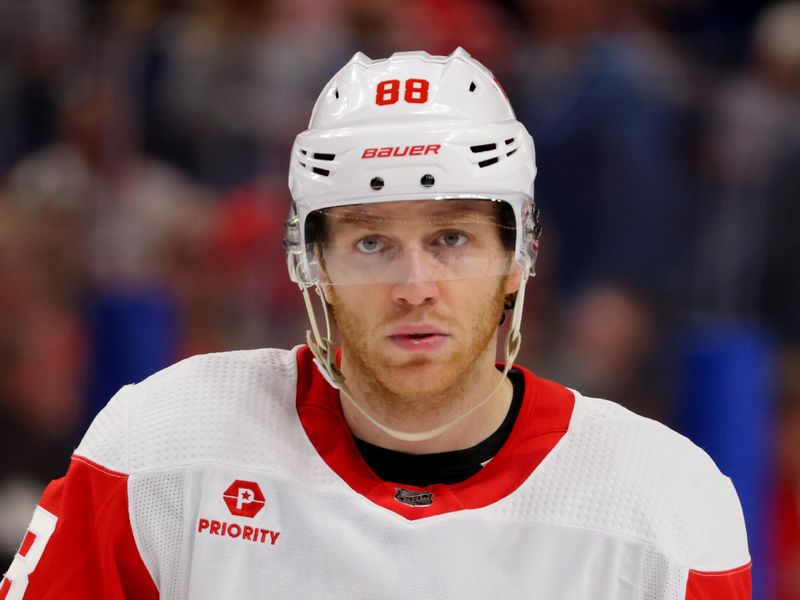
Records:
M565 387L519 369L525 396L503 448L478 473L460 483L418 488L383 481L367 466L342 413L339 392L312 362L308 347L297 353L297 413L322 459L356 492L409 520L488 506L522 485L567 431L575 397ZM398 488L432 493L428 506L408 506L395 499Z

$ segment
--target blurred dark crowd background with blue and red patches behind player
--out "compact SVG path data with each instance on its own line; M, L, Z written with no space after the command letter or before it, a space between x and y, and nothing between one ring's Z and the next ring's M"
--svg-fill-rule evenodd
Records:
M356 51L494 71L544 215L520 362L690 435L800 599L800 2L0 0L0 562L96 412L304 340L289 149Z

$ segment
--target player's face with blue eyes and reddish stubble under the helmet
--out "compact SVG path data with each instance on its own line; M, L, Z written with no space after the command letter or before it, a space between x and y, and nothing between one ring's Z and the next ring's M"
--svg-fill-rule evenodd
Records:
M326 213L323 264L333 285L323 287L343 361L397 408L446 402L478 363L494 368L504 298L519 282L498 212L492 202L450 200Z

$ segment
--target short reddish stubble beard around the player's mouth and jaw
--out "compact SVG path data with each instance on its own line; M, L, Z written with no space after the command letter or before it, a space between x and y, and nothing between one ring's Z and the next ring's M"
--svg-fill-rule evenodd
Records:
M384 419L400 420L408 417L435 419L452 412L463 402L480 375L478 363L490 345L494 357L495 335L505 293L501 282L475 311L473 322L467 327L437 314L435 309L420 308L398 311L373 327L365 324L357 311L341 302L332 288L328 297L347 360L358 378L359 395L364 396L360 400ZM424 365L427 358L397 364L372 343L375 331L386 331L400 320L422 321L423 318L443 324L457 334L457 347L446 357L437 359L435 380L426 375L422 381L403 369Z

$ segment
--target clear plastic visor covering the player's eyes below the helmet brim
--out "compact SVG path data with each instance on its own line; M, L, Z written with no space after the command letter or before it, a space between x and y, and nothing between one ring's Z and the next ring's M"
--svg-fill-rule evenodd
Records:
M521 269L513 210L498 201L339 206L306 222L307 257L329 285L477 279Z

